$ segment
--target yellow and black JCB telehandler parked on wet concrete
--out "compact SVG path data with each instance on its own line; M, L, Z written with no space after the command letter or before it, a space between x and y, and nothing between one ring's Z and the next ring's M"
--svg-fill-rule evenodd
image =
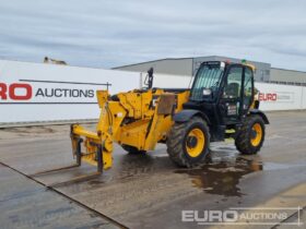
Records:
M210 142L227 137L235 138L242 154L258 153L269 121L254 99L254 71L247 63L210 61L200 65L190 89L153 88L151 70L145 89L113 96L97 91L96 132L71 125L75 166L85 160L97 166L96 173L110 168L115 142L131 154L164 143L169 158L183 167L201 162Z

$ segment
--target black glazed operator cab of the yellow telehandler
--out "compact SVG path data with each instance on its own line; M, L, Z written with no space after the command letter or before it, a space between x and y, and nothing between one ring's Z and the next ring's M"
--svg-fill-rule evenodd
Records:
M225 129L239 125L249 112L254 100L254 70L243 63L203 62L184 109L200 110L213 123L212 137L223 138Z

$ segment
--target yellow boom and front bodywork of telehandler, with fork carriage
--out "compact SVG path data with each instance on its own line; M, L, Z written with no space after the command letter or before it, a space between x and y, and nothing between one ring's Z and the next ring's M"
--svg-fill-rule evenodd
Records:
M73 124L73 154L76 155L78 142L83 140L85 152L80 152L82 160L97 165L97 154L102 154L103 169L108 169L113 165L114 142L139 150L153 150L158 142L166 140L173 125L173 114L183 109L188 98L189 91L131 91L117 94L116 98L111 98L107 91L97 91L101 117L96 131Z

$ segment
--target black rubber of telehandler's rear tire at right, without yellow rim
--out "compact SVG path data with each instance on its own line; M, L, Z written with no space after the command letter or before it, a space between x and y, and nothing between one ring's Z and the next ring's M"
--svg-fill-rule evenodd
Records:
M252 144L252 138L257 137L257 132L252 130L255 124L259 124L261 126L261 138L258 144ZM238 134L235 138L236 148L244 155L252 155L257 154L264 141L266 129L264 122L260 116L248 116L243 123L243 126L238 131Z

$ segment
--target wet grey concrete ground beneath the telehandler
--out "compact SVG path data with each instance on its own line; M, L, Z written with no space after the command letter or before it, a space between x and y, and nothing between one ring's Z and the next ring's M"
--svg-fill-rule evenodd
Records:
M240 228L297 228L298 219L306 224L306 111L268 117L271 124L258 155L239 155L231 141L213 143L210 164L180 169L168 159L164 145L145 155L128 155L116 146L113 169L54 189L47 186L95 171L82 165L34 180L27 177L73 162L69 126L2 129L0 224L4 228L237 228L183 222L181 214L229 208L251 213L255 209L245 208L256 207L285 217L267 220L266 226L240 219Z

